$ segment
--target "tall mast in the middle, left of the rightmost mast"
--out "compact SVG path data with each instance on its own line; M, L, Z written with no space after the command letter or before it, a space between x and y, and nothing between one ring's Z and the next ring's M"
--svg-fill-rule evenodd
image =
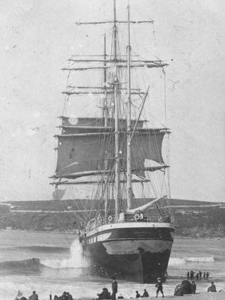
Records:
M120 207L120 157L119 157L119 98L118 98L118 89L119 81L117 78L117 24L116 24L116 9L115 9L115 0L113 0L114 6L114 26L113 26L113 38L114 38L114 47L113 47L113 56L115 64L115 75L113 81L114 88L114 118L115 118L115 222L117 222L119 217L119 207Z

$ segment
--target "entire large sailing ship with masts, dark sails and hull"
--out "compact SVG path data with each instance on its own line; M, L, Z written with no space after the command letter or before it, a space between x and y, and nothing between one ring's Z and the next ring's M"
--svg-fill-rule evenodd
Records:
M131 21L129 4L126 20L118 20L115 0L113 15L112 21L77 23L112 24L112 43L108 53L104 35L103 54L71 56L70 65L63 68L69 76L73 72L97 71L103 80L101 86L68 84L63 92L66 103L74 95L96 96L100 115L61 116L54 183L56 192L61 192L59 185L80 185L87 191L86 187L93 187L95 191L93 200L89 196L83 200L83 207L87 207L80 214L80 243L91 274L147 283L159 276L165 278L174 224L168 190L164 193L161 189L158 195L145 199L136 199L135 194L138 190L145 194L153 190L149 185L155 175L162 175L165 185L169 165L162 157L162 141L170 132L166 126L148 126L143 115L149 88L142 90L134 85L132 72L142 68L164 72L167 63L132 54L130 26L152 24L152 20ZM120 24L127 31L125 53L119 45ZM87 81L91 79L87 76Z

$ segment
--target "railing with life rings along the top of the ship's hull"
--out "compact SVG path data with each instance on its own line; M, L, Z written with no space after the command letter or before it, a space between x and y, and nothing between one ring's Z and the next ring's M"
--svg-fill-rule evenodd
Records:
M138 217L137 217L138 215ZM120 216L120 219L116 221L115 215L109 215L108 217L95 217L93 219L90 219L90 221L87 224L87 232L100 227L102 225L106 224L113 224L113 223L125 223L125 222L164 222L164 223L172 223L172 219L170 216L167 217L162 217L162 216L151 216L151 215L146 215L145 216L140 216L140 214L135 214L135 215L125 215L124 218Z

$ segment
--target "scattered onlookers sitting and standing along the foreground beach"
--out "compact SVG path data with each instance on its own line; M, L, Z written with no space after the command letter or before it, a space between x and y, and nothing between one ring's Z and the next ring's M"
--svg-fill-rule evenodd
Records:
M201 279L202 272L199 271L198 274L199 274L199 278ZM193 279L193 278L194 278L194 272L189 271L187 273L187 279ZM207 278L209 278L209 273L208 273ZM156 297L158 296L159 292L160 292L160 294L162 294L162 297L164 297L161 278L157 278L157 284L155 284L155 287L157 288L156 289ZM195 284L194 280L192 280L192 281L183 280L181 284L178 284L176 286L175 291L174 291L174 296L183 296L184 294L195 294L196 289L197 289L197 285ZM101 293L97 294L98 299L96 299L96 300L124 299L122 294L119 294L117 296L117 290L118 290L117 281L115 279L115 276L113 276L112 277L112 293L110 293L110 291L108 291L108 289L106 287L104 287L103 291ZM211 286L209 286L207 291L208 292L216 292L216 286L214 284L214 281L211 281ZM149 294L146 289L144 289L142 296L139 291L136 291L136 294L134 296L134 298L146 298L146 297L149 297ZM27 299L26 297L23 296L23 293L21 291L18 291L18 294L17 294L15 300L38 300L38 294L36 294L36 291L33 291L31 296L29 296ZM55 295L53 297L52 294L50 294L49 300L73 300L73 296L68 291L64 291L61 296Z

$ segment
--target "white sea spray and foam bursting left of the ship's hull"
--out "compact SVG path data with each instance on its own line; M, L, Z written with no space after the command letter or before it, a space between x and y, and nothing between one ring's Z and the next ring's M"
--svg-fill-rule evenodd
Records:
M88 261L83 257L82 247L78 240L70 246L70 257L66 259L42 259L41 264L53 269L83 269L88 268Z

